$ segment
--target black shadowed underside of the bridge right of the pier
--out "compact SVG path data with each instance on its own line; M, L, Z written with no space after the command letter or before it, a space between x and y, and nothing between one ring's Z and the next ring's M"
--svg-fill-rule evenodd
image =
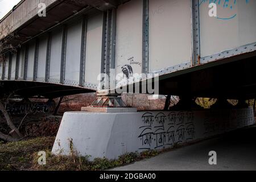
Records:
M160 76L159 94L229 99L255 98L255 68L256 53L251 52L184 69Z

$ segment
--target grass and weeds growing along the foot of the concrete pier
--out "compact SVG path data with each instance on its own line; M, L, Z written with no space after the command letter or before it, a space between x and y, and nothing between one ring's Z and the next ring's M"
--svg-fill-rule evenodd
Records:
M100 171L151 158L170 150L131 152L119 156L116 160L97 158L89 161L89 156L79 156L73 151L72 140L70 155L51 154L54 141L54 137L46 137L0 144L0 170ZM44 166L38 164L39 151L46 151L46 165Z

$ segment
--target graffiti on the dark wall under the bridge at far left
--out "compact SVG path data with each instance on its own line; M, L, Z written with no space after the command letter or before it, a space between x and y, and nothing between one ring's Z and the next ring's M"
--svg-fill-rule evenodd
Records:
M19 103L7 104L6 110L11 115L27 114L27 113L44 113L47 114L51 111L53 106L52 102L29 102L29 103Z

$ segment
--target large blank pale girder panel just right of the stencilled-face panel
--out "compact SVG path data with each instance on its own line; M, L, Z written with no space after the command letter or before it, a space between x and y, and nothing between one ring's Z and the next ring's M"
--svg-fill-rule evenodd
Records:
M149 72L191 60L191 1L149 1Z

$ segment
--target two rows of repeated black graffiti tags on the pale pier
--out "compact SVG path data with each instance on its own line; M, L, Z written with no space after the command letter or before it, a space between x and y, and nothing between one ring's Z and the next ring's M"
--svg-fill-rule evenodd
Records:
M193 112L144 113L139 127L140 150L158 149L195 139Z

